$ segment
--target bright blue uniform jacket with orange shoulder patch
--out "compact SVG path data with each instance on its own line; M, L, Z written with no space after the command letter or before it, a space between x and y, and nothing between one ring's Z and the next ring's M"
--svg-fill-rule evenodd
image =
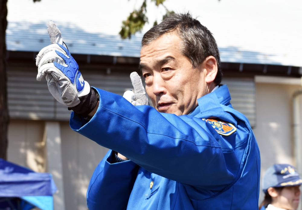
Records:
M182 116L97 91L94 117L70 119L73 130L111 149L90 180L90 210L258 209L259 148L226 85ZM130 160L112 164L112 150Z

